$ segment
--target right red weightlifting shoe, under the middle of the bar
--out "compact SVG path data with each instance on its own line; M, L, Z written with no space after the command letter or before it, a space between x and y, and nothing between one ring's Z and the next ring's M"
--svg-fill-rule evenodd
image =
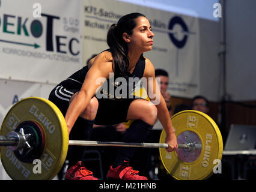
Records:
M107 179L148 180L145 176L139 176L138 173L138 170L133 170L132 167L129 166L129 161L124 161L124 164L115 167L115 169L110 166Z

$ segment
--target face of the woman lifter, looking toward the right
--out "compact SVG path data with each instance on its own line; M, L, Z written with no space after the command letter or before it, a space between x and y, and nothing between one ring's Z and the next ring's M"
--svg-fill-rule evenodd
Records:
M132 35L129 35L129 49L135 48L136 51L147 52L152 49L154 34L151 31L150 22L145 17L135 19L136 26Z

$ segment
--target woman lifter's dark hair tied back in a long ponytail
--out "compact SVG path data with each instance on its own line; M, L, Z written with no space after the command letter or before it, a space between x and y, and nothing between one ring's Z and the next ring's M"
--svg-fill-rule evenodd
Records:
M115 76L127 77L129 75L128 46L123 40L123 33L132 35L132 30L136 26L135 19L145 17L141 13L130 13L121 17L117 24L112 24L107 35L107 43L111 49L113 62L115 65Z

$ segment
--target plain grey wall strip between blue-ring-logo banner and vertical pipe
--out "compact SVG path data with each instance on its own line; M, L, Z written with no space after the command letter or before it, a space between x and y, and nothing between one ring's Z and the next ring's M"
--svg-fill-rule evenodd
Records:
M222 96L220 41L220 23L200 19L200 94L210 101L219 101Z

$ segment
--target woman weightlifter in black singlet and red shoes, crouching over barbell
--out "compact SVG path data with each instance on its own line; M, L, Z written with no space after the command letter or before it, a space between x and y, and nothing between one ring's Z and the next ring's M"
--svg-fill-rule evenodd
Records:
M70 139L90 140L93 124L114 125L134 120L124 134L122 142L143 142L158 118L166 131L166 143L169 145L166 150L171 152L177 149L174 128L154 76L154 66L143 56L144 52L152 49L153 37L150 22L143 14L131 13L121 17L117 24L109 28L109 49L99 53L91 59L90 65L72 74L52 90L49 100L55 103L65 116ZM114 74L114 77L111 74ZM153 83L147 83L147 92L159 94L159 102L153 104L156 97L151 97L152 94L148 94L151 101L147 101L142 98L130 98L129 95L115 97L108 89L102 89L105 88L103 83L117 89L123 82L109 85L111 78L117 77L127 80L127 89L130 89L129 77L153 78ZM104 78L105 82L96 83ZM99 91L108 98L97 97ZM120 148L109 168L107 178L147 180L129 166L129 160L134 153L135 148ZM85 168L83 157L84 148L69 146L67 158L70 166L65 175L66 179L97 179L93 172Z

